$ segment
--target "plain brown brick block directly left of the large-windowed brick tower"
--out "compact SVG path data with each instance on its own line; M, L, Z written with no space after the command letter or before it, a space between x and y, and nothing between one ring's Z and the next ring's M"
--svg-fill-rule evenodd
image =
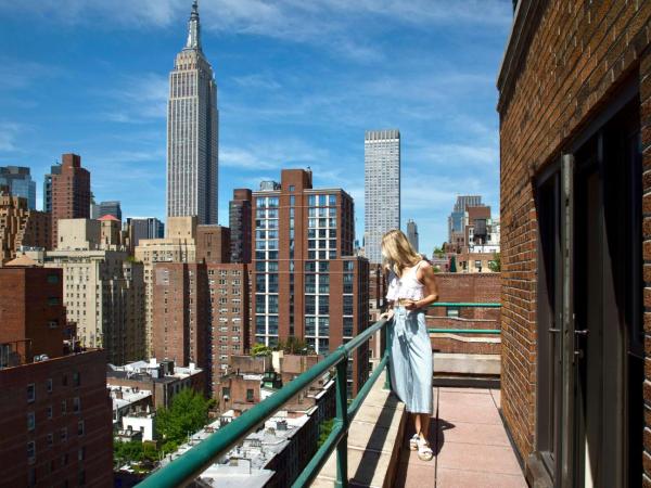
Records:
M216 396L230 357L250 347L248 266L157 262L153 287L154 356L205 369Z

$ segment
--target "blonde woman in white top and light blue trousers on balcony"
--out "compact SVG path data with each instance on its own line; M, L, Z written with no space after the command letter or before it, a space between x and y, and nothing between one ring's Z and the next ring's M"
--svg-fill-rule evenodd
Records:
M432 345L425 323L425 309L438 299L432 266L411 246L399 230L382 237L382 256L388 271L386 299L393 318L390 338L390 371L392 386L413 414L416 434L409 448L430 461L434 453L427 442L432 415Z

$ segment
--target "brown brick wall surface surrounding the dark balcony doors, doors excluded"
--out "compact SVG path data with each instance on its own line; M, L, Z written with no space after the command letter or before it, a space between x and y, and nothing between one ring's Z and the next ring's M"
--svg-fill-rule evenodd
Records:
M502 411L520 454L534 449L537 215L532 176L599 114L625 79L639 76L643 144L643 235L651 259L651 2L532 1L540 16L522 63L502 88L500 113ZM515 36L511 43L515 42ZM644 267L651 286L651 266ZM651 287L644 290L651 305ZM651 313L644 317L651 334ZM647 355L651 352L651 335ZM651 406L651 362L644 394ZM644 446L651 452L647 410ZM650 460L649 457L646 458ZM651 463L644 463L651 470ZM647 471L648 475L651 472Z

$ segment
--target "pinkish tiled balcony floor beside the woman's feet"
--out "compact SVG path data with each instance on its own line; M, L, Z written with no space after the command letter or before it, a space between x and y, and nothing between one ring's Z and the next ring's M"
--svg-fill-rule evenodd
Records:
M423 462L409 450L413 424L405 432L396 488L525 488L498 408L500 391L488 388L434 388L430 444L434 459Z

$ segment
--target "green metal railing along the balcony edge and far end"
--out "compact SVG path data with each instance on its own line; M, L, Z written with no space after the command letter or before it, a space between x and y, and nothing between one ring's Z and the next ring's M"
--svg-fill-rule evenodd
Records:
M500 304L457 304L457 303L437 303L431 307L456 307L456 308L499 308ZM386 339L386 324L388 322L382 319L368 328L361 334L347 344L337 347L319 361L312 368L301 374L272 396L244 412L238 419L219 428L216 433L204 439L197 446L192 447L188 452L171 461L165 467L159 468L146 477L138 485L140 488L173 488L182 487L201 475L220 457L226 454L238 442L246 437L251 432L256 431L263 422L269 419L273 413L282 408L284 403L306 389L326 372L336 368L335 377L335 402L336 415L334 418L333 428L317 450L316 454L305 466L303 472L293 483L292 488L298 488L309 485L321 467L328 460L328 457L336 449L336 487L346 488L348 486L348 427L350 422L359 411L365 398L382 374L382 371L388 363L388 341ZM359 389L357 396L348 404L346 378L349 356L360 345L367 343L373 334L382 331L384 334L384 352L382 360L378 363L373 373ZM452 332L459 334L499 334L499 330L457 330L457 329L429 329L431 333ZM391 388L391 378L385 376L385 388Z

